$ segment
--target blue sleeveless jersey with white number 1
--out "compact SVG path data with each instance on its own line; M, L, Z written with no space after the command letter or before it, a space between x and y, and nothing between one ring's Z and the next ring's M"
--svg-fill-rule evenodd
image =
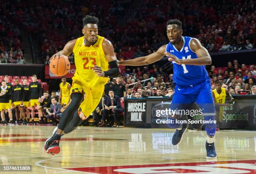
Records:
M197 54L192 51L189 47L189 42L191 37L182 36L184 41L184 46L180 51L178 51L171 42L166 45L166 52L175 55L179 59L197 59ZM182 86L190 86L199 84L200 82L209 79L208 73L205 69L205 65L185 65L173 63L173 80L176 84Z

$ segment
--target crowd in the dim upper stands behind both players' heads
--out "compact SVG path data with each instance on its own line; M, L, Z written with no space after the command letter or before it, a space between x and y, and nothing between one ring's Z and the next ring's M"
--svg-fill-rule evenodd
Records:
M150 54L161 45L167 44L165 27L166 21L171 18L181 20L184 35L198 38L209 52L255 48L255 1L183 0L166 6L168 3L167 0L145 1L134 12L134 18L120 26L118 19L125 15L125 9L131 4L129 0L111 3L88 0L61 3L60 0L44 0L44 3L7 2L4 3L1 14L1 35L4 33L8 36L3 41L5 47L12 43L13 51L18 50L21 46L15 45L20 39L14 39L20 35L18 24L13 25L6 20L10 18L20 23L41 44L41 59L44 64L49 64L49 57L60 51L67 41L82 36L82 18L86 14L99 18L99 34L113 43L118 59L132 59ZM8 53L10 48L6 51ZM16 59L16 53L12 55ZM17 59L15 61L19 62L21 58ZM8 62L12 61L15 62L12 59ZM70 55L70 61L74 63L74 55Z

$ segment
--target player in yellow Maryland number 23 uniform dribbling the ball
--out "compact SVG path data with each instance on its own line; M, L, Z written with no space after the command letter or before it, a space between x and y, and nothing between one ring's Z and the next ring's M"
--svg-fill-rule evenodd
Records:
M82 28L84 36L69 41L63 50L51 57L58 59L74 52L76 72L72 78L71 102L63 112L58 127L44 144L48 154L59 154L61 136L75 130L95 110L108 77L119 75L113 45L98 36L97 23L98 18L85 16Z

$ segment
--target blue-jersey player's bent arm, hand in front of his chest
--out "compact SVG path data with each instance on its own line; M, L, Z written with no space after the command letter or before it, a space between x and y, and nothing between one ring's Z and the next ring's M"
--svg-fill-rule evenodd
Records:
M173 54L166 52L166 56L169 57L169 61L175 61L177 64L185 64L185 65L210 65L212 64L212 59L207 49L203 47L195 38L192 38L189 47L192 51L197 54L197 59L179 59Z

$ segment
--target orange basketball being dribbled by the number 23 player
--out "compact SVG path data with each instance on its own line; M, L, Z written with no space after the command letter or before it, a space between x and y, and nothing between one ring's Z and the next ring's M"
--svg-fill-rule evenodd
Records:
M70 62L66 56L58 57L55 56L55 59L51 59L50 70L51 73L56 76L64 76L69 72Z

